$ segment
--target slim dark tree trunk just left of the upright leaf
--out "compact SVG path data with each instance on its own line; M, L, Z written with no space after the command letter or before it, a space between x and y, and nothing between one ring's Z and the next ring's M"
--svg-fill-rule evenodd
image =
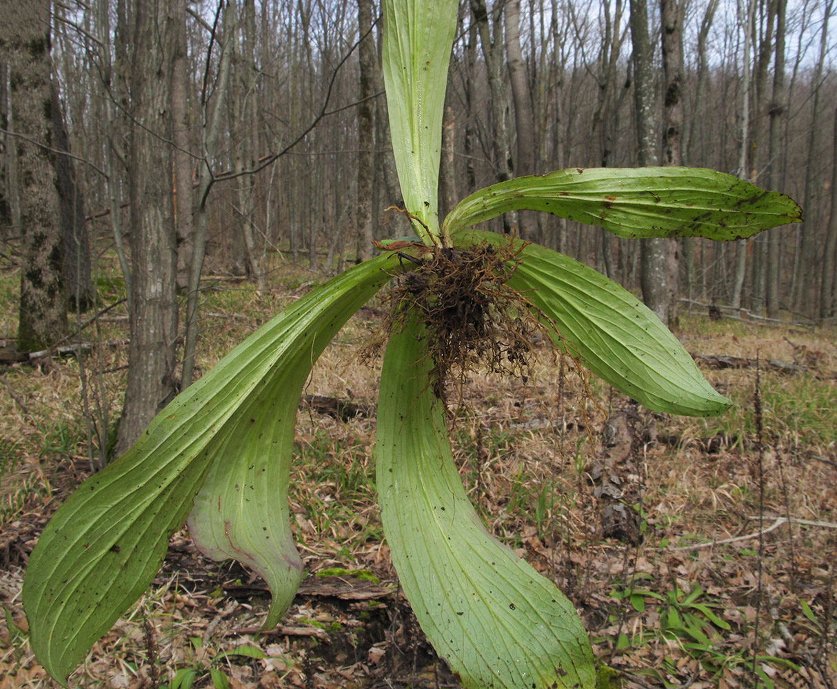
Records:
M367 33L358 48L360 100L357 107L357 258L372 258L372 159L375 150L375 38L372 35L372 0L357 0L357 27Z

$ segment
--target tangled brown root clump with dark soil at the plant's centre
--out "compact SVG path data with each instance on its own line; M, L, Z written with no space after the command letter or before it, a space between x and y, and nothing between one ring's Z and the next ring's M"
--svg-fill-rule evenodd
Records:
M526 298L506 282L520 263L520 249L482 244L434 248L430 258L398 277L375 355L388 334L403 329L408 314L426 328L434 362L434 392L445 400L447 384L460 389L470 373L488 370L524 382L531 375L538 340L552 342Z

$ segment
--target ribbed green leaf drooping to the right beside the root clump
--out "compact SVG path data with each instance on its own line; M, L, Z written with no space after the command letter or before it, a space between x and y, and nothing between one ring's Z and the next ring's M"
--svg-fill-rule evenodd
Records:
M508 240L470 231L457 241L462 245ZM594 374L655 411L714 416L730 406L706 382L677 338L628 290L537 244L526 244L519 258L508 286L557 327L553 339L558 348Z

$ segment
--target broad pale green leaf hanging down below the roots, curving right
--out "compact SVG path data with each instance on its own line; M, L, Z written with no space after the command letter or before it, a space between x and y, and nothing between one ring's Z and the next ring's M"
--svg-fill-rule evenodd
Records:
M415 324L390 338L377 409L377 490L398 578L465 687L593 687L569 600L485 530L451 456Z

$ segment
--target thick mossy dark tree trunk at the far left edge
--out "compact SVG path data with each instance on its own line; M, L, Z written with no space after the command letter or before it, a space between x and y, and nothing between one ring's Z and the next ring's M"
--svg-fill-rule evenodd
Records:
M44 350L68 332L58 174L51 150L49 3L2 0L0 16L7 18L0 23L0 59L9 66L12 126L20 135L13 140L22 257L18 350ZM14 22L8 20L12 17Z

